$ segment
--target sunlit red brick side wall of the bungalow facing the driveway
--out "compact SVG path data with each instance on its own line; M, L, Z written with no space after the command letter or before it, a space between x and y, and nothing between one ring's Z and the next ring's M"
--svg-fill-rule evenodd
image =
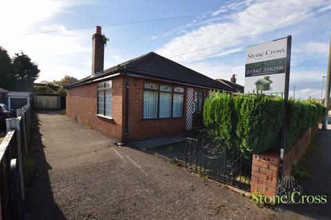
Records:
M125 78L123 76L112 78L112 120L96 115L97 83L68 89L67 114L82 124L91 126L95 131L113 138L116 142L121 142L123 139L124 89Z

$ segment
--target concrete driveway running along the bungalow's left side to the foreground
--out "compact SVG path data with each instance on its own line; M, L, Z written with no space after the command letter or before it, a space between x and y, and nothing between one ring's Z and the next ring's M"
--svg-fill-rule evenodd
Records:
M301 219L258 208L163 159L39 112L27 219Z

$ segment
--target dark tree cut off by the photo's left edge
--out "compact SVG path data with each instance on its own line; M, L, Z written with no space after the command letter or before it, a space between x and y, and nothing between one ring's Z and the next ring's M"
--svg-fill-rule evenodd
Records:
M7 51L0 47L0 88L14 89L15 78L12 74L12 59Z

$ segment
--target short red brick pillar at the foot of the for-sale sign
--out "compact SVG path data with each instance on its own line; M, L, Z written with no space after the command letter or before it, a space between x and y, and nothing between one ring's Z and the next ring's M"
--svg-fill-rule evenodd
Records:
M276 195L278 184L279 153L263 152L253 154L252 181L250 192Z

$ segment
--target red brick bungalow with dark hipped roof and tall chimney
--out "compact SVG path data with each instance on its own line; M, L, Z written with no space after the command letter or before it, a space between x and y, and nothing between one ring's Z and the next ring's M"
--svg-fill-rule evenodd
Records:
M67 114L119 143L199 128L208 91L235 92L154 52L103 69L105 43L97 26L92 36L92 74L66 87Z

